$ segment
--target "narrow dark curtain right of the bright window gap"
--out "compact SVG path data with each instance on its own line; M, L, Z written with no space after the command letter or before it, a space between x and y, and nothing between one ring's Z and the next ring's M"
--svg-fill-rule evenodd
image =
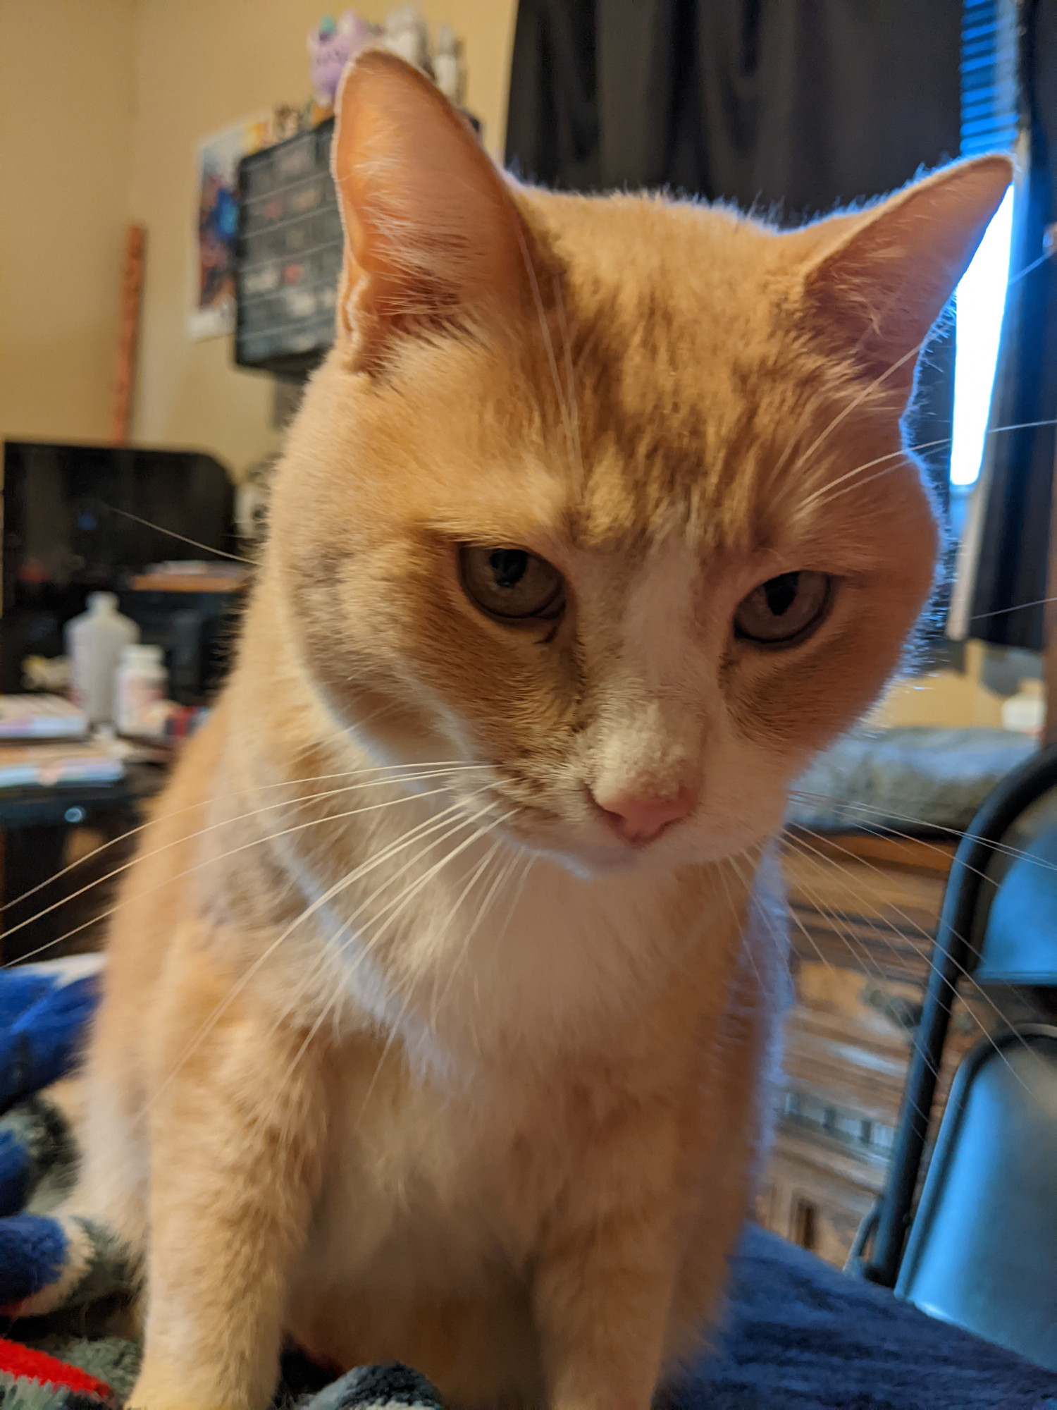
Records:
M1057 268L1043 261L1046 227L1057 220L1057 4L1030 0L1020 27L1022 123L1027 179L1018 190L1005 347L991 426L1022 426L1057 415ZM1018 278L1018 271L1027 271ZM992 430L979 556L968 634L996 646L1040 650L1050 543L1054 429ZM1032 605L1022 605L1032 603Z

